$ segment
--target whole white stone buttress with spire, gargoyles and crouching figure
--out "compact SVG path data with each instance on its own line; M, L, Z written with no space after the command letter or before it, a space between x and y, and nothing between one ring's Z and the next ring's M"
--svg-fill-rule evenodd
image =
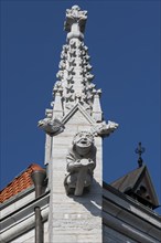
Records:
M46 133L45 165L51 190L49 242L101 243L103 137L117 124L103 120L100 89L92 82L84 44L87 11L66 10L53 108L39 126Z

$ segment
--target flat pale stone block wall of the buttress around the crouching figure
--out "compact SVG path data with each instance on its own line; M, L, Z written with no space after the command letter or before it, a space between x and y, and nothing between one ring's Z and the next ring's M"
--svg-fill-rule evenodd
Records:
M76 115L76 114L75 114ZM78 120L79 122L79 120ZM88 120L84 130L90 127ZM71 119L65 124L66 130L71 129ZM69 128L68 128L69 127ZM76 125L78 127L78 125ZM87 127L87 129L86 129ZM96 156L96 169L92 190L83 197L66 196L63 179L66 172L66 152L60 146L64 140L68 141L67 148L73 141L75 129L66 137L65 130L53 139L53 154L50 170L51 202L50 202L50 236L51 242L101 242L101 138L96 137L95 146L99 146ZM60 156L58 156L60 154ZM97 165L97 160L99 161ZM63 178L62 178L63 177ZM64 233L63 233L64 232ZM53 236L54 235L54 236ZM88 235L85 239L80 235ZM95 236L94 236L95 235ZM64 241L65 240L65 241Z

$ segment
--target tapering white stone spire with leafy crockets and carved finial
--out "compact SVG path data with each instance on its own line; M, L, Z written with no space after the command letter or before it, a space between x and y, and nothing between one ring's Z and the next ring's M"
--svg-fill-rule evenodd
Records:
M92 115L95 84L92 83L94 75L90 73L90 56L88 47L84 44L85 23L87 11L80 11L78 6L66 10L65 31L67 31L66 44L61 53L60 71L56 74L57 81L53 88L55 97L54 110L57 110L57 103L61 112L65 115L76 103L88 110ZM100 110L101 113L101 110Z

